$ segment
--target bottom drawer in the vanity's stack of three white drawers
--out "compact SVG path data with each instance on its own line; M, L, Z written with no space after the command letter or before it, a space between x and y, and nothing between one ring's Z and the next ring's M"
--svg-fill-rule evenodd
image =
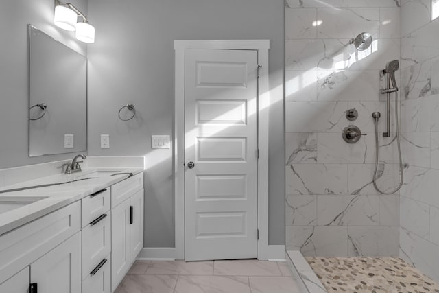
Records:
M104 264L99 266L102 262ZM108 254L92 269L96 271L95 274L91 274L92 271L88 272L86 279L82 281L82 293L110 293L110 268L110 254Z

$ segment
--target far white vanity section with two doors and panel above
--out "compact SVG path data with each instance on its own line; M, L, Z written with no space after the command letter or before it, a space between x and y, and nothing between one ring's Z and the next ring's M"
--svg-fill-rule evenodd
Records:
M111 283L114 291L143 248L142 174L113 185L111 198L112 206L117 204L112 208L111 218Z

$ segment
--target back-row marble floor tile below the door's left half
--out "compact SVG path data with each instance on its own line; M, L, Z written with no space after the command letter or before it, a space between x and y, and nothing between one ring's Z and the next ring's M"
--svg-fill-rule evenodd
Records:
M152 261L146 274L212 275L213 261Z

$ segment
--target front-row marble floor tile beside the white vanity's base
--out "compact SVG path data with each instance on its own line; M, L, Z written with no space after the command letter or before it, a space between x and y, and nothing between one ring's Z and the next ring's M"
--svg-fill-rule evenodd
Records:
M177 276L127 275L115 293L172 293Z

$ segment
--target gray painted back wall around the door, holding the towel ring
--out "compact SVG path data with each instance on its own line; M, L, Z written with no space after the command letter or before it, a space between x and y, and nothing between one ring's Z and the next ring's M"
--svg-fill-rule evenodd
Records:
M88 46L88 153L146 156L145 247L174 246L172 151L150 148L152 134L173 134L174 40L270 39L270 244L284 244L284 1L90 0L96 43ZM117 110L136 105L134 121ZM110 149L99 135L110 134Z

